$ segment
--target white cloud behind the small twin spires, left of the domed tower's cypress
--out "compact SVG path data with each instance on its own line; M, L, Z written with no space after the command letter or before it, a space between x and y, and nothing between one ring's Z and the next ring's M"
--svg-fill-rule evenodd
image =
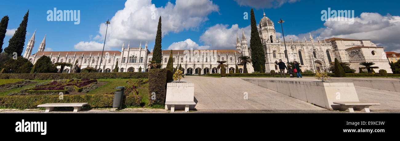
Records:
M242 28L238 24L233 24L230 28L227 24L216 24L211 26L200 36L200 41L209 45L210 49L236 49L236 33L242 39ZM250 46L250 25L244 28L244 34Z

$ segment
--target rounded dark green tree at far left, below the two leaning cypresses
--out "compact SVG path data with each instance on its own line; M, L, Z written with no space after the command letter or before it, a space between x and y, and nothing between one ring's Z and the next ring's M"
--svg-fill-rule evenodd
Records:
M31 65L29 65L29 63ZM32 63L29 62L28 59L22 56L18 56L17 59L10 58L6 62L4 62L4 65L2 67L4 68L3 73L29 73L30 69L32 69L32 66ZM26 72L26 70L28 72Z

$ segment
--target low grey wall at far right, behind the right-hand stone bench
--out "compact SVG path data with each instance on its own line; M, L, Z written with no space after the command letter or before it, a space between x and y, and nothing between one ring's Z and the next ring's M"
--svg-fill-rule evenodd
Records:
M373 78L372 78L373 79ZM400 80L354 80L354 79L334 79L331 78L329 81L332 82L350 82L356 86L367 87L372 89L380 89L385 91L392 91L400 93Z

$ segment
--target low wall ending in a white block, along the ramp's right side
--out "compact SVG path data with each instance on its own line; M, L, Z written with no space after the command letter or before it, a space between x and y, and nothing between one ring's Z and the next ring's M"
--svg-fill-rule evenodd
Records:
M338 101L359 101L353 83L243 79L272 91L313 103L326 109L339 109Z

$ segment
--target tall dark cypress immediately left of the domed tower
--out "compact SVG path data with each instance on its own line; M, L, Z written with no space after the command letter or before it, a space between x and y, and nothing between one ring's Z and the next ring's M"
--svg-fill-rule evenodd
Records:
M250 13L250 22L251 22L250 46L251 46L251 57L252 57L251 60L253 62L253 68L254 71L264 72L265 70L264 65L266 60L264 56L264 49L262 48L260 34L258 34L257 23L256 23L256 18L254 17L253 8L251 9Z

